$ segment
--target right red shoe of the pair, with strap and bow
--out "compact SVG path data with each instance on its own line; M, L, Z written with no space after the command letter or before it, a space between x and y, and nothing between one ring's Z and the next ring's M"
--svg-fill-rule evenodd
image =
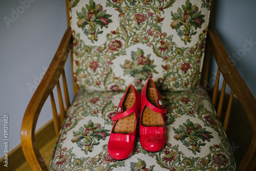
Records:
M140 144L149 152L160 151L166 142L164 113L161 96L152 78L141 91Z

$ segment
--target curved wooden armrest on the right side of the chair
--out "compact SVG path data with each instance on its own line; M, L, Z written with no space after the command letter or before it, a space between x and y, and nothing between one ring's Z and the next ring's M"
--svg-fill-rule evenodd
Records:
M238 170L253 170L256 167L256 100L234 68L214 28L208 29L208 41L224 80L241 102L252 128L251 143Z

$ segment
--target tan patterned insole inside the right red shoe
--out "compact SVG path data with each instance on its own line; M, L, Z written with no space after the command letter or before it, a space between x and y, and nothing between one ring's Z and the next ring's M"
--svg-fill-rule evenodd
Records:
M151 104L158 108L158 96L155 88L147 87L146 98ZM144 107L141 117L141 124L144 126L163 126L162 114L151 110L147 106Z

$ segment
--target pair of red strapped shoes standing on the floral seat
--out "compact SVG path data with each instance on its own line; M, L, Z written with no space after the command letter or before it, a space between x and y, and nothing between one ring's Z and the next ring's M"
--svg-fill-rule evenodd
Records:
M152 78L141 91L141 97L132 84L129 85L112 117L114 125L108 143L109 155L123 160L133 154L137 117L140 109L140 143L149 152L160 151L166 142L164 113L161 96Z

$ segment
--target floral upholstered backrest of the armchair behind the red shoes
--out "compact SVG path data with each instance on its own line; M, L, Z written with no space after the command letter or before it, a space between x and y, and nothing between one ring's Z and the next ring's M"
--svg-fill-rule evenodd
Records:
M159 90L199 86L209 0L72 0L74 73L79 87Z

